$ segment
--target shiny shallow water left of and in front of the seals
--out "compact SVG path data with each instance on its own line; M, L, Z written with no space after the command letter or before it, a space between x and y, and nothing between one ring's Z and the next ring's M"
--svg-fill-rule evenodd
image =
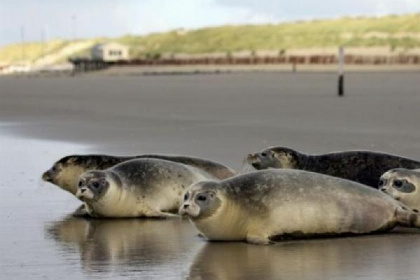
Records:
M417 279L420 232L206 242L183 220L73 218L80 203L42 172L86 148L2 137L1 279Z

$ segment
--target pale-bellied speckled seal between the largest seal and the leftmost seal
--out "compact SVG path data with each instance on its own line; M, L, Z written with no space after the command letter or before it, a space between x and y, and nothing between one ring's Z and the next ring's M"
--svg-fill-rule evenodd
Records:
M182 163L133 159L79 178L76 196L92 217L175 217L184 190L213 176Z

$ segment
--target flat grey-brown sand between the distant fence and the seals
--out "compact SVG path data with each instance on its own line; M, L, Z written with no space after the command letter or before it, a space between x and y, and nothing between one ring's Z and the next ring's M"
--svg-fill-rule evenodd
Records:
M3 78L9 133L104 151L207 156L235 168L269 145L419 157L417 72Z

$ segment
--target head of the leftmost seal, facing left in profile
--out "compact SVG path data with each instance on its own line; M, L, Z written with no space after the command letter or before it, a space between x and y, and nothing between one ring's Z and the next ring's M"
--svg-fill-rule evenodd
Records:
M79 176L86 171L80 164L79 156L67 156L58 160L42 174L42 180L59 186L65 191L76 194Z

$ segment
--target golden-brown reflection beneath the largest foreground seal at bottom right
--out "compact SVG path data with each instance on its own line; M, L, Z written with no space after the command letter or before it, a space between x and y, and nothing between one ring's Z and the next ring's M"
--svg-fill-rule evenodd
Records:
M419 237L413 232L274 246L207 243L195 257L188 279L410 278L418 273Z

